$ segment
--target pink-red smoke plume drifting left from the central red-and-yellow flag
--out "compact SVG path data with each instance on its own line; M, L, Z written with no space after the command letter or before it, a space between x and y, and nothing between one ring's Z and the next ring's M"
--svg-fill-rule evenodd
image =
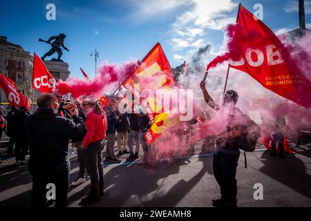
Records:
M117 64L103 64L99 70L100 74L92 81L87 79L68 78L66 81L59 80L56 88L59 93L65 95L71 93L73 98L81 95L100 97L103 90L117 81L123 81L126 77L133 75L138 65L136 62Z

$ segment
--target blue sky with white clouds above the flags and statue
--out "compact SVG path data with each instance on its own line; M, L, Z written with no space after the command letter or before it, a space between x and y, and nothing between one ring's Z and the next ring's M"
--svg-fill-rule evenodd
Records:
M263 5L263 21L281 33L299 26L298 0L94 0L1 1L0 35L30 53L44 55L49 46L38 41L66 33L63 60L71 77L95 73L91 51L99 50L99 63L142 59L160 42L171 66L182 64L198 48L211 44L206 63L224 50L224 28L235 22L238 3L254 12ZM56 21L46 19L46 5L56 6ZM311 24L311 0L305 0L306 23ZM55 57L56 55L54 55Z

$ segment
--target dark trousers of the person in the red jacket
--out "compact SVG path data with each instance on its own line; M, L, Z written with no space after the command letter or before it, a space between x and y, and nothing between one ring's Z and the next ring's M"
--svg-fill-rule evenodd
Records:
M86 171L91 177L91 191L88 195L93 198L99 198L100 191L104 191L102 150L102 140L91 143L83 150Z

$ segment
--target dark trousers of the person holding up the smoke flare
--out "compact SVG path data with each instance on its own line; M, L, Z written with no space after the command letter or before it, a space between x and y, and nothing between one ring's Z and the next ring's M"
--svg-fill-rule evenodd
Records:
M221 197L229 203L236 203L236 167L240 155L214 153L213 171L220 186Z

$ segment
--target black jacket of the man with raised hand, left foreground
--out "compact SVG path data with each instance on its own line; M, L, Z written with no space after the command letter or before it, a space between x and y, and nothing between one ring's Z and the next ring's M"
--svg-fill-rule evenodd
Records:
M31 175L57 174L69 170L69 139L81 140L86 126L80 117L73 121L59 117L51 109L39 108L26 119L29 137L30 159L28 163Z

